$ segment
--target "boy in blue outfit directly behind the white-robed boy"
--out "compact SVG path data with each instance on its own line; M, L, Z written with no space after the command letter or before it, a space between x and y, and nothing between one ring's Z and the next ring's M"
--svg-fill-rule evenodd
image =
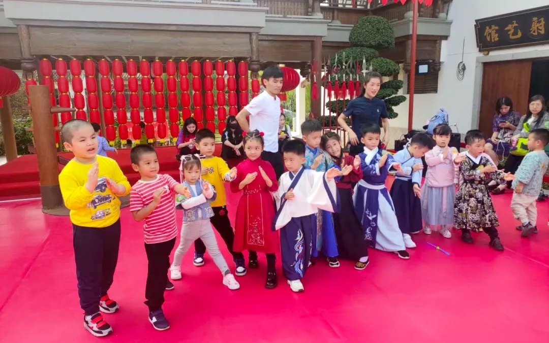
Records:
M305 166L317 172L326 172L334 167L332 157L320 148L322 136L322 124L316 119L311 119L301 124L302 140L305 142ZM318 256L322 250L328 259L328 265L333 268L339 267L338 245L335 239L332 214L329 211L318 210L316 216L315 249L313 257Z

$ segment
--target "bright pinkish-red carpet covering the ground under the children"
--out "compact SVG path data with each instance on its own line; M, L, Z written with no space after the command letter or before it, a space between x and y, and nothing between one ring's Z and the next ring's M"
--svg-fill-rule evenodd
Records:
M234 218L238 196L229 197ZM183 260L183 279L166 291L171 329L156 331L143 305L147 260L142 224L122 210L122 242L110 295L121 310L105 315L114 333L104 342L543 342L549 335L549 229L547 202L538 204L539 231L514 229L510 193L495 196L502 242L488 237L466 245L458 235L413 236L411 259L370 250L371 264L329 268L320 261L304 279L305 292L264 288L260 269L228 290L206 257L204 267ZM43 215L37 201L0 203L0 342L98 342L82 327L76 293L71 226ZM181 212L178 214L181 219ZM25 220L21 220L25 218ZM220 239L218 239L222 242ZM427 242L449 251L447 256ZM222 251L229 261L225 247ZM234 265L230 264L231 268Z

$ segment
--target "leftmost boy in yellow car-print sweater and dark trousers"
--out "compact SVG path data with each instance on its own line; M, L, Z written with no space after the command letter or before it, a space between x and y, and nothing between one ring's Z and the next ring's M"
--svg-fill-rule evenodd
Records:
M130 184L114 159L97 156L92 124L73 119L63 124L61 136L64 147L74 153L59 174L59 186L70 209L84 327L94 336L106 336L113 328L99 311L114 313L119 308L107 291L113 284L120 245L118 197L130 192Z

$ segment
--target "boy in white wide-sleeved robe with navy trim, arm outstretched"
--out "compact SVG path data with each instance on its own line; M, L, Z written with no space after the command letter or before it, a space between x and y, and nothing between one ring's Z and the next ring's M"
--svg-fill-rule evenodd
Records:
M289 141L282 147L284 165L278 188L275 228L280 230L282 268L290 289L303 291L304 277L313 248L315 214L318 208L335 211L339 207L333 179L339 176L336 168L326 173L305 169L305 145L299 140ZM349 165L348 167L351 167ZM350 168L345 168L350 172Z

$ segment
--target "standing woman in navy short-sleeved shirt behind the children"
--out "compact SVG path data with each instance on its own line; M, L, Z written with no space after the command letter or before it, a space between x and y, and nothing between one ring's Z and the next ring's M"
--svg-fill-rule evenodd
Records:
M362 138L361 130L365 124L381 124L383 139L380 141L380 145L387 146L389 144L387 108L385 101L376 98L380 85L381 75L378 72L372 71L366 74L361 95L349 101L345 111L338 117L338 124L349 134L351 143L349 155L351 156L356 156L364 151L364 144L360 142L360 139ZM351 117L351 127L345 122L347 117Z

